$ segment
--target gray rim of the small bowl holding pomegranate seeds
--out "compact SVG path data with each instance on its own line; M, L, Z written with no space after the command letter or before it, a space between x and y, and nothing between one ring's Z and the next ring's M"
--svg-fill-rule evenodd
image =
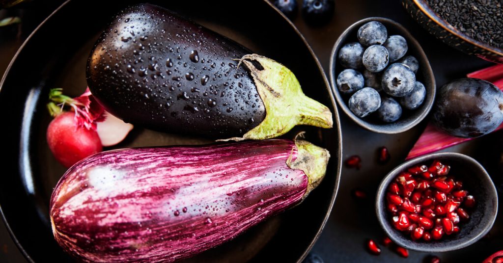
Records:
M478 232L477 234L474 234L473 237L471 237L469 240L467 240L463 243L460 243L457 245L449 245L449 242L447 242L447 243L443 243L442 245L439 245L436 247L428 247L428 248L424 248L423 243L414 243L413 246L410 246L408 244L402 243L400 239L397 239L395 237L395 233L392 232L392 230L394 231L394 228L392 228L391 224L385 219L384 214L387 213L387 211L384 209L384 207L382 205L383 202L381 202L381 200L384 199L385 192L386 192L386 189L388 188L388 185L391 183L391 180L394 178L394 176L396 176L396 174L398 172L404 170L405 168L407 168L411 165L425 162L425 161L432 160L432 159L436 159L436 158L457 159L457 160L461 160L464 162L469 162L469 163L473 164L477 169L482 171L481 173L477 173L477 174L478 174L478 176L483 177L484 179L487 179L487 181L488 181L488 187L486 188L487 195L489 197L494 197L494 200L495 200L494 211L496 211L496 213L494 213L492 215L489 214L489 216L491 218L489 219L489 221L486 225L482 225L482 227L480 229L481 231ZM415 250L415 251L421 251L421 252L447 252L447 251L461 249L463 247L466 247L466 246L469 246L469 245L475 243L476 241L481 239L485 234L487 234L487 232L489 232L489 230L492 228L492 225L494 224L494 221L496 220L497 210L498 210L498 198L497 198L496 187L494 186L494 183L492 182L492 180L489 176L489 173L474 158L472 158L468 155L462 154L462 153L457 153L457 152L430 153L430 154L426 154L426 155L423 155L423 156L420 156L420 157L417 157L414 159L410 159L410 160L403 162L402 164L396 166L388 174L386 174L386 176L382 179L381 183L379 184L379 188L377 189L376 200L375 200L375 211L376 211L376 215L377 215L377 220L379 221L379 225L384 230L386 235L389 236L389 238L391 238L391 240L393 240L393 242L397 243L400 246L403 246L405 248Z

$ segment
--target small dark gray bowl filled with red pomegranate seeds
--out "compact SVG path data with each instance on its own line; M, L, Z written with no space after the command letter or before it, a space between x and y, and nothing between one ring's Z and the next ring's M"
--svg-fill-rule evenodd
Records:
M497 213L487 171L460 153L428 154L394 168L382 180L376 213L386 234L405 248L444 252L482 238Z

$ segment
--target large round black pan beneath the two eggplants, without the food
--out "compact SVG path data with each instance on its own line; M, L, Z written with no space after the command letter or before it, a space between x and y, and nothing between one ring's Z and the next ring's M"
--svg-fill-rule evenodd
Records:
M56 244L48 220L49 197L66 170L54 159L45 139L51 120L45 107L48 91L62 87L69 96L80 95L87 85L86 60L98 36L115 13L136 3L141 2L65 2L21 46L0 82L0 107L9 113L2 119L9 124L3 131L8 138L3 147L9 154L2 158L0 205L6 226L28 261L73 261ZM293 138L299 131L306 131L307 140L331 153L326 177L302 204L232 241L184 261L300 262L328 219L341 173L339 116L318 60L293 24L268 1L251 1L246 9L234 1L217 5L211 1L150 3L185 15L250 50L281 61L295 72L304 93L328 106L333 113L332 129L297 127L284 136ZM256 14L264 19L257 19ZM250 26L249 21L254 25ZM269 30L271 24L275 25L274 30ZM295 56L291 56L291 50L295 50ZM114 148L210 142L135 127L128 138Z

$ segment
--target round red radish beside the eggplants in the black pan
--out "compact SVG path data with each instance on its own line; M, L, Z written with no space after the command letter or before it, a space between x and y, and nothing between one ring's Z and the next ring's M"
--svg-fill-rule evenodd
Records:
M102 151L98 133L77 126L73 112L62 113L51 121L47 128L47 143L56 160L65 167Z

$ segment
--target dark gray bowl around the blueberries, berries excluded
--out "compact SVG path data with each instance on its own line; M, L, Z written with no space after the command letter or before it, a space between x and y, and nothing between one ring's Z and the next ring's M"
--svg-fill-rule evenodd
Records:
M406 55L412 55L419 61L419 69L416 73L416 79L425 84L426 87L426 98L419 108L409 111L403 109L402 116L396 122L385 123L370 114L367 117L359 118L348 107L348 100L351 96L343 95L339 93L337 88L336 79L339 73L345 68L339 64L337 61L337 55L339 54L339 49L348 42L358 41L356 33L358 29L365 23L370 21L381 22L388 30L388 36L390 35L400 35L407 40L408 51ZM362 69L363 70L363 69ZM360 70L362 72L362 70ZM426 57L425 52L421 48L421 45L415 40L414 37L400 24L394 22L393 20L387 18L371 17L360 20L355 24L351 25L346 31L344 31L336 44L333 46L331 57L330 57L330 84L332 87L333 94L336 97L337 103L343 109L343 111L356 123L365 129L368 129L377 133L387 133L394 134L404 132L416 124L420 123L430 112L435 100L436 84L435 76L433 75L432 67L430 62Z

